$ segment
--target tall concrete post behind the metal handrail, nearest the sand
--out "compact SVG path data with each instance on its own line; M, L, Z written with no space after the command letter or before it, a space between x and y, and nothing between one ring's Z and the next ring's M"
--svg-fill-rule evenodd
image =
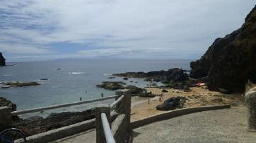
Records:
M127 132L131 130L131 91L124 92L124 112L125 120L127 122Z

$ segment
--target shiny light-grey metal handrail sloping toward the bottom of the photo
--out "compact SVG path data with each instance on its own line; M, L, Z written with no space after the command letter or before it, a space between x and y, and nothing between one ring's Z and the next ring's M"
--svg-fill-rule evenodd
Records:
M110 123L107 120L107 115L105 113L101 113L102 126L105 134L105 139L107 143L115 143L114 136L112 135L110 129Z

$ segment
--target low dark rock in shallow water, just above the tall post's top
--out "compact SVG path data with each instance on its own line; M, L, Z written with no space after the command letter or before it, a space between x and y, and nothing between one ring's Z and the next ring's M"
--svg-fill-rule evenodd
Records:
M97 87L114 91L118 89L124 89L124 85L125 83L122 81L103 81L102 84L98 84Z

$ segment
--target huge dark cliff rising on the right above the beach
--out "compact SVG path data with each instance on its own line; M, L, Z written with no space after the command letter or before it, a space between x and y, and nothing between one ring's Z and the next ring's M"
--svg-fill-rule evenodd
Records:
M210 90L245 91L248 79L256 82L256 6L238 30L217 38L207 52L191 62L192 78L206 77Z

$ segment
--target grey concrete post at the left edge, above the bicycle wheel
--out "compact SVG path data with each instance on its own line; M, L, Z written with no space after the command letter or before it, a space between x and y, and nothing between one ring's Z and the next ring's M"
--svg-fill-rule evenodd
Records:
M11 108L0 107L0 131L11 126Z

